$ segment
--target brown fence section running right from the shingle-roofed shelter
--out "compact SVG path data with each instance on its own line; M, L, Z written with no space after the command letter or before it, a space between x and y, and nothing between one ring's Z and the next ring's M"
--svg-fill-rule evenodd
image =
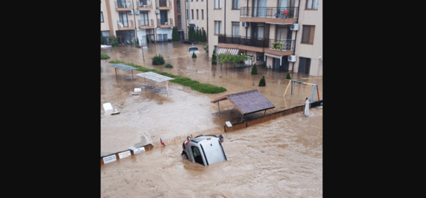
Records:
M321 102L323 102L323 100L312 102L311 104L309 104L309 107L310 108L318 107L321 104ZM267 122L271 119L275 119L275 118L278 118L278 117L281 117L281 116L284 116L284 115L289 115L289 114L292 114L292 113L301 112L304 109L305 109L305 105L301 105L301 106L293 107L293 108L290 108L290 109L285 109L283 111L277 111L277 112L274 112L274 113L271 113L271 114L268 114L268 115L264 115L262 117L258 117L256 119L253 119L253 120L250 120L250 121L232 124L231 127L228 127L228 126L225 125L225 126L223 126L223 129L225 130L225 132L240 130L242 128L247 128L247 127L253 126L255 124Z

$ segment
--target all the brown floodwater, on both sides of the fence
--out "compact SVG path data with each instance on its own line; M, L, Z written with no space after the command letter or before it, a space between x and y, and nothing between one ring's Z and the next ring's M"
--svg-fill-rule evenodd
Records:
M228 100L210 103L225 94L258 89L275 109L266 114L303 105L312 89L295 85L293 95L287 72L258 67L233 68L230 63L212 65L203 49L206 44L164 42L142 49L131 46L101 48L111 59L101 60L101 156L157 143L175 137L212 131L223 132L226 121L240 122L241 114ZM197 46L197 59L188 53ZM161 54L173 68L153 66L151 58ZM145 61L143 60L145 58ZM139 71L114 70L110 60L121 60L145 68L188 76L200 83L225 87L220 94L202 94L189 87L144 80ZM291 68L291 63L290 63ZM290 72L291 74L291 72ZM258 83L265 76L266 87ZM292 79L314 83L323 100L322 78L292 74ZM142 89L132 96L134 88ZM315 91L314 101L318 100ZM121 113L105 114L110 102ZM261 117L264 112L245 115L243 120ZM213 132L214 131L214 132ZM322 197L323 196L323 109L286 115L235 132L223 133L227 162L208 167L181 158L179 143L101 165L101 197Z

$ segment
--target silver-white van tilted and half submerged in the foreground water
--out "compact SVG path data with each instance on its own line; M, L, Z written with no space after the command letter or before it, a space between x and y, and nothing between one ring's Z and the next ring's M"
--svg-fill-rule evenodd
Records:
M215 162L227 160L220 139L216 135L200 135L182 144L182 157L190 162L208 166Z

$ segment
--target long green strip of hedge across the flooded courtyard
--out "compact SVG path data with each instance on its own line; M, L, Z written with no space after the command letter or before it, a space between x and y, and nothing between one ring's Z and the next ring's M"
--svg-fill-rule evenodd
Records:
M171 83L176 83L179 85L190 87L191 89L194 89L195 91L199 91L203 94L218 94L218 93L222 93L226 91L224 87L217 87L216 85L211 85L208 83L200 83L199 81L194 81L186 76L178 76L178 75L169 74L167 72L163 72L156 69L144 68L134 63L126 63L125 61L120 61L120 60L113 60L113 61L110 61L110 63L123 63L123 64L126 64L127 66L132 66L137 68L136 70L140 72L155 72L157 74L169 76L174 79L170 81Z

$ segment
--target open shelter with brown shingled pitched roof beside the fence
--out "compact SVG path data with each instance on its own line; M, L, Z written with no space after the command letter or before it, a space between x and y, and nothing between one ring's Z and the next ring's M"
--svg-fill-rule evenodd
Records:
M221 100L229 100L234 105L234 107L240 111L242 114L241 122L244 115L256 113L259 111L265 111L266 113L266 110L275 108L275 106L268 100L268 98L263 96L263 94L260 94L258 89L244 91L236 94L227 94L210 101L212 103L217 102L219 113L221 113L221 108L219 107L219 101Z

